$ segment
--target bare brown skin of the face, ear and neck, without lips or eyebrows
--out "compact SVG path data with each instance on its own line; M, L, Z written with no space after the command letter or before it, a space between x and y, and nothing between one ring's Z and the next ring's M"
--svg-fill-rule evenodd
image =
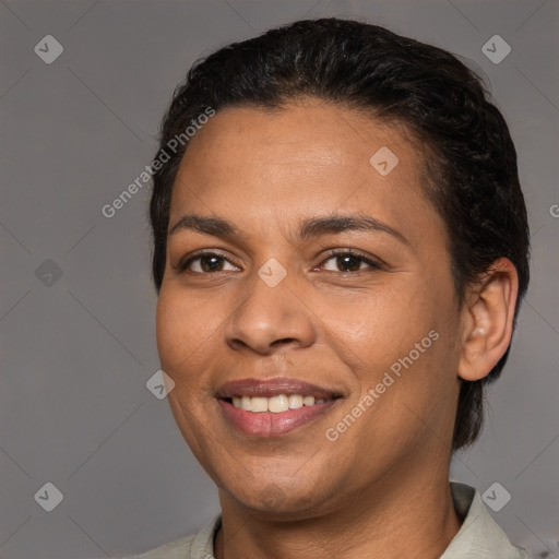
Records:
M388 176L369 163L382 146L399 157ZM421 156L404 127L318 99L225 109L191 140L169 229L198 214L239 235L169 235L157 345L176 383L177 425L218 486L217 559L437 558L460 528L448 483L460 381L484 377L504 353L518 281L500 260L459 305ZM372 216L406 240L358 230L298 238L301 221L332 215ZM378 265L340 262L331 249ZM179 270L203 250L223 259ZM258 275L272 258L287 273L275 287ZM326 429L432 331L438 340L328 440ZM218 388L274 377L343 397L283 436L239 431Z

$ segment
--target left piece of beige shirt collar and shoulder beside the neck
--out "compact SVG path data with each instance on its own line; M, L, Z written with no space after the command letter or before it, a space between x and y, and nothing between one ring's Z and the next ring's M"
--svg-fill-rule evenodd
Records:
M222 522L217 514L204 527L192 536L183 536L163 546L140 555L120 559L210 559L213 558L213 543Z

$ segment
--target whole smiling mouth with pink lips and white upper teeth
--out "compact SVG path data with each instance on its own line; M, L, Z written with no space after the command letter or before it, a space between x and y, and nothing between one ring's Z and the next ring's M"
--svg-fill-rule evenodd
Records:
M322 416L343 395L294 379L246 379L221 386L216 394L225 418L257 437L285 435Z

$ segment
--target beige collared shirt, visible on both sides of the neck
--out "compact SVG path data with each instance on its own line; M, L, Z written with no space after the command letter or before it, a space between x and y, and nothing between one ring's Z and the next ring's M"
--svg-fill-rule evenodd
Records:
M531 559L515 547L491 518L477 489L450 481L454 508L464 518L462 527L440 559ZM176 539L152 551L128 559L215 559L213 540L222 522L217 514L194 536Z

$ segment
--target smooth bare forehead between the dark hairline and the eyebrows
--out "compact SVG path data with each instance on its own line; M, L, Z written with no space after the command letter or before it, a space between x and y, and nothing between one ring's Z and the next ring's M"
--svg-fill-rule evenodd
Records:
M384 221L405 217L413 224L420 209L428 219L435 214L423 168L406 127L357 109L316 99L274 110L227 108L190 140L170 222L193 207L237 221L366 209Z

